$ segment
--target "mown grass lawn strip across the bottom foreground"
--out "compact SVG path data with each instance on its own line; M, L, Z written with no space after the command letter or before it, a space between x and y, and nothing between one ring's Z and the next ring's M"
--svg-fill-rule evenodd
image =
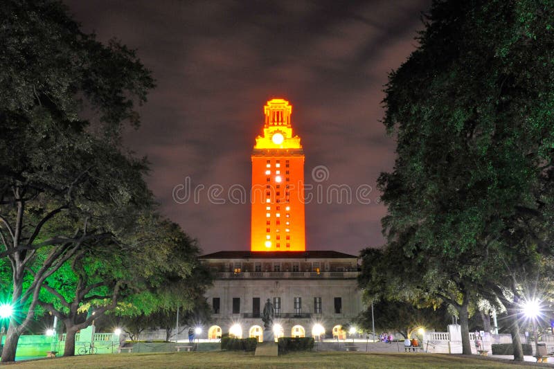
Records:
M6 368L528 368L510 361L447 354L301 352L254 357L253 352L94 354L19 362Z

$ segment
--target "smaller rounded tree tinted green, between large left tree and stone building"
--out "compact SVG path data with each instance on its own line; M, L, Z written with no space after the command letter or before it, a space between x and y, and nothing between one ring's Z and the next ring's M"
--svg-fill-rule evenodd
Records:
M126 241L81 249L44 283L39 304L66 327L64 356L75 354L75 333L103 314L162 314L176 305L185 313L204 300L211 279L177 224L151 215Z

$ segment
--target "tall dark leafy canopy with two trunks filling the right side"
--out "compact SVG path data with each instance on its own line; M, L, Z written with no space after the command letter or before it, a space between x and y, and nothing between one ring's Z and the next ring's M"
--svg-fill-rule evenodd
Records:
M553 22L548 0L434 1L386 86L398 155L379 178L388 246L458 309L464 353L477 295L517 313L521 283L553 253Z

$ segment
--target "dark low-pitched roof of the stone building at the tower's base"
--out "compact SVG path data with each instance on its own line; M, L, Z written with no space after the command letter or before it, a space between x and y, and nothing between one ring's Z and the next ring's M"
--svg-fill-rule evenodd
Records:
M217 251L200 256L201 259L350 259L358 257L339 251Z

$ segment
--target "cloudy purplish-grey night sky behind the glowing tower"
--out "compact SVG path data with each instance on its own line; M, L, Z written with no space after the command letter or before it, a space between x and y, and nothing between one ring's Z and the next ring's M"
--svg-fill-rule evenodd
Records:
M322 193L352 188L352 202L306 204L308 250L357 255L384 239L375 204L379 172L391 170L393 138L382 123L383 85L414 50L429 0L382 1L65 1L85 32L138 49L157 80L126 134L148 156L148 178L164 215L197 237L204 253L248 250L250 206L212 204L206 188L249 188L250 155L270 98L292 103L292 127L306 156L306 183ZM328 168L314 182L312 169ZM177 204L173 188L190 177L199 201ZM361 204L360 185L373 191ZM182 193L182 192L181 192Z

